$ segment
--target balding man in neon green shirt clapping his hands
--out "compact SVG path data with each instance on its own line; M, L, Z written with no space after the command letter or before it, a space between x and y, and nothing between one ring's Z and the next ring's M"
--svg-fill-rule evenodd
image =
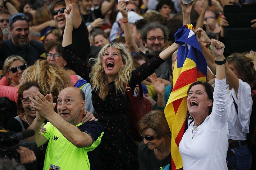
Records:
M56 104L52 104L51 94L44 97L37 92L32 95L34 98L29 97L29 105L37 112L29 129L34 129L35 135L28 140L35 141L38 147L49 141L44 170L95 169L97 146L104 132L97 121L81 123L84 117L84 92L76 87L61 90L57 99L58 114L53 110ZM46 133L38 135L45 119L49 121L44 126Z

